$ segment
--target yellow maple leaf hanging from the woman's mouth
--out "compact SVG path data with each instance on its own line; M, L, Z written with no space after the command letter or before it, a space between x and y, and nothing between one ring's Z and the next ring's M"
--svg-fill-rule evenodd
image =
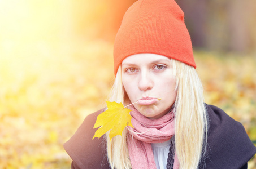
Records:
M132 117L130 112L132 110L124 108L122 103L116 103L115 101L106 101L107 110L97 116L96 123L93 128L98 128L95 132L94 137L100 138L107 131L110 131L110 140L116 135L121 135L126 126L132 126Z

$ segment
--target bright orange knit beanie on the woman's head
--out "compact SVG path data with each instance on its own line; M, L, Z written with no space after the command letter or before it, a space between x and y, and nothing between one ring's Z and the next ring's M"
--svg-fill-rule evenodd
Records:
M151 53L196 68L184 12L174 0L138 0L123 17L114 42L114 73L131 55Z

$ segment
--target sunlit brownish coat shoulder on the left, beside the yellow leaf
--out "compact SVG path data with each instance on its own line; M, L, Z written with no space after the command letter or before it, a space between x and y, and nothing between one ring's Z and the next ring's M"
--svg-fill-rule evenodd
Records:
M89 114L75 134L64 144L64 149L72 158L72 168L109 168L106 141L103 137L93 138L97 128L93 128L97 116L103 110Z

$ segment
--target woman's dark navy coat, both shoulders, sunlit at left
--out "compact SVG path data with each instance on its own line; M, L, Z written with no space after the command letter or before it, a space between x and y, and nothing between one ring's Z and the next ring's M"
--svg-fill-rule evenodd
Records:
M247 168L247 162L256 153L242 124L229 117L222 109L207 105L209 134L207 158L201 168ZM73 159L71 168L110 168L107 160L106 141L93 138L97 115L102 110L88 115L76 133L64 144L64 149ZM171 161L168 158L167 161Z

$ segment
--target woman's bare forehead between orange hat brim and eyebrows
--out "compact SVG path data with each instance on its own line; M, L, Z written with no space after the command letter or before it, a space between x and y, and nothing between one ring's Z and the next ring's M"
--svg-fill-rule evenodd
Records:
M169 57L157 54L134 54L131 56L126 57L123 64L138 64L138 63L152 63L157 61L167 61L171 62Z

